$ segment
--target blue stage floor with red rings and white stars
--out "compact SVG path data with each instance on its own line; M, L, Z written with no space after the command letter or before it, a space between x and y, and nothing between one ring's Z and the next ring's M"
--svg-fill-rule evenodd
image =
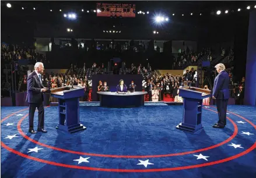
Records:
M255 177L256 108L228 106L227 126L204 106L204 130L176 129L183 106L145 103L139 108L80 104L87 130L55 129L58 107L45 108L48 133L28 133L27 107L1 107L2 177ZM37 128L37 112L34 119Z

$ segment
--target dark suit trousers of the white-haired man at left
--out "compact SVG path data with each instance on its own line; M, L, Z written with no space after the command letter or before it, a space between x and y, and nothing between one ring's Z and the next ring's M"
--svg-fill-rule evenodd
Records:
M44 105L43 102L29 104L29 129L34 129L34 112L38 109L37 129L44 129Z

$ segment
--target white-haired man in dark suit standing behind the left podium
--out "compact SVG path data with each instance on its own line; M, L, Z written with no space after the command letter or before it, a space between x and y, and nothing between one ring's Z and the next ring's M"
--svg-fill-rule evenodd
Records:
M43 86L42 75L44 71L44 65L41 62L37 62L34 65L34 71L27 77L27 98L29 103L29 132L36 134L37 131L46 133L44 130L44 98L43 92L48 88ZM34 112L38 109L38 127L37 131L34 131Z

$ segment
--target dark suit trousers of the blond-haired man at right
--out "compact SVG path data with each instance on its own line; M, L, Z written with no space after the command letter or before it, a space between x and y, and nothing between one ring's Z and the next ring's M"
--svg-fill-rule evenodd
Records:
M216 106L219 115L219 126L226 126L227 124L227 102L229 99L216 99Z

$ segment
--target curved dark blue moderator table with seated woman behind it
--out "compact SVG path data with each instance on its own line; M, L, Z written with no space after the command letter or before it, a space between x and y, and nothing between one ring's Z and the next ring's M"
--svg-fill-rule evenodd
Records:
M144 95L146 91L135 92L110 92L99 91L97 94L100 96L100 106L114 107L114 108L129 108L144 105Z

